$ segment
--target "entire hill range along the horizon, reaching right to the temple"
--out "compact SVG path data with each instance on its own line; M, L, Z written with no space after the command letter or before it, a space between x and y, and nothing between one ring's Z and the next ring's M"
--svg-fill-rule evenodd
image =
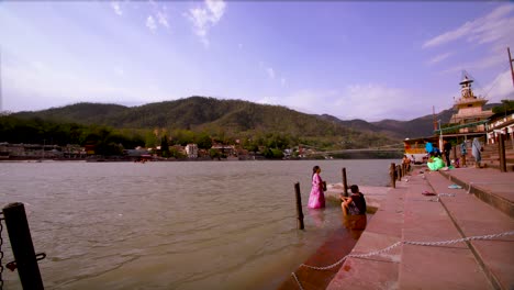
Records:
M489 104L489 108L493 104ZM452 109L438 114L420 116L410 121L340 120L328 114L305 114L281 105L257 104L243 100L219 100L190 97L175 101L124 107L104 103L76 103L42 111L13 113L19 118L41 118L58 122L101 124L118 129L183 129L195 131L223 130L233 133L284 132L291 135L379 135L390 141L405 137L429 136L434 120L447 123Z

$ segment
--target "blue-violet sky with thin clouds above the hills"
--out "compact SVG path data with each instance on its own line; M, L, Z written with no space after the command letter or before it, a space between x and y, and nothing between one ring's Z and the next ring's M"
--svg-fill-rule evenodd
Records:
M190 96L342 120L449 109L462 69L514 99L514 3L3 1L2 110Z

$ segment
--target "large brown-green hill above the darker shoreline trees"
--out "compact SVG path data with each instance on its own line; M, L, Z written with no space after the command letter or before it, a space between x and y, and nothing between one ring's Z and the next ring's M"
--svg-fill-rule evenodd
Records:
M398 143L384 134L362 132L319 115L297 112L280 105L242 100L191 97L141 107L77 103L36 112L19 112L12 118L53 123L107 125L114 129L166 129L203 132L212 137L269 138L280 135L293 144L319 148L361 148ZM177 133L177 132L175 132Z

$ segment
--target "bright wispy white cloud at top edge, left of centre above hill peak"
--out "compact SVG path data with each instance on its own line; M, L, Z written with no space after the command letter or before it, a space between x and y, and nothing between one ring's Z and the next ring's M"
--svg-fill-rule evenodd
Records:
M209 47L209 30L220 22L225 13L226 3L222 0L205 0L203 8L192 8L185 16L192 23L194 34Z

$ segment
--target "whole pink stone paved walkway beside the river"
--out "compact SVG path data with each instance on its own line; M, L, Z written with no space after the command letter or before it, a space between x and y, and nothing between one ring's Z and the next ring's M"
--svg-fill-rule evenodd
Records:
M513 200L514 172L417 168L388 192L327 289L514 289ZM500 233L510 234L469 238Z

